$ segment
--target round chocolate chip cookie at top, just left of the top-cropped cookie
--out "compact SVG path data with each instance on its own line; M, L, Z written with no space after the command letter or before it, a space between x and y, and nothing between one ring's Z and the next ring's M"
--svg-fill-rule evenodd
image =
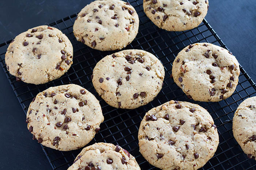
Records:
M78 41L96 50L121 50L136 37L139 17L121 0L96 0L84 7L74 23Z

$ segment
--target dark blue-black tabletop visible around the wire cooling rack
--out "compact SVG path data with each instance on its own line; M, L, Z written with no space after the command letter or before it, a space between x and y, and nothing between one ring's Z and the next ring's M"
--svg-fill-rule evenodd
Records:
M0 43L37 25L79 12L91 0L7 0L0 3ZM256 1L210 0L206 20L256 81ZM51 169L32 140L25 115L0 69L0 169Z

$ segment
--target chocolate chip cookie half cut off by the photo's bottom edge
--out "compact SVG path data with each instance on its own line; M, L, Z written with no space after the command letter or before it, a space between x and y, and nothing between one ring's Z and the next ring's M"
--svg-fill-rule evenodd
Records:
M120 146L94 143L85 147L68 170L140 170L135 158Z

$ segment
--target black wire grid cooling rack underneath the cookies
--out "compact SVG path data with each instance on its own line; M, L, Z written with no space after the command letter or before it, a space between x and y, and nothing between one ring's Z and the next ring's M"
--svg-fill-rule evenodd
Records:
M247 158L247 156L242 152L240 146L237 144L232 133L232 118L237 106L244 99L251 97L256 93L256 86L252 79L240 66L241 74L239 76L239 83L236 91L230 98L214 103L195 102L188 99L182 90L174 83L173 79L170 78L170 75L172 74L172 63L175 56L177 56L178 52L180 52L184 47L193 43L208 42L226 49L227 47L206 20L203 20L199 27L189 31L167 32L156 27L147 18L143 12L143 0L131 0L129 3L136 9L139 15L140 26L136 39L133 40L125 49L146 50L157 56L163 63L163 66L165 67L164 85L157 98L145 106L134 110L127 110L111 107L98 96L91 82L93 68L99 60L106 55L112 54L113 51L101 52L93 50L76 41L76 38L72 33L72 27L77 16L77 14L74 14L49 24L50 26L56 27L65 33L74 48L74 63L68 72L57 80L53 80L52 82L42 85L16 82L15 77L10 75L7 71L4 61L5 52L11 40L0 44L1 67L3 68L11 87L15 92L15 95L17 96L24 113L26 114L27 108L34 96L49 87L69 83L83 86L93 93L100 101L105 118L105 121L100 126L101 130L95 135L94 139L88 145L92 145L95 142L108 142L113 143L114 145L118 144L135 156L142 170L150 170L157 168L150 165L142 157L139 153L138 146L138 129L143 116L151 108L159 106L169 100L189 101L199 104L210 112L215 124L217 125L219 133L218 149L214 154L214 157L206 163L202 170L255 169L256 161ZM42 149L54 170L66 170L72 165L75 157L82 150L78 149L63 152L44 146L42 146Z

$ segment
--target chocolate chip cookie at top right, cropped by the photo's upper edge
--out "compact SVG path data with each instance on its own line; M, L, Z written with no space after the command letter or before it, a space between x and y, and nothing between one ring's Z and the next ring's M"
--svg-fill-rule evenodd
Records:
M143 0L147 17L167 31L185 31L202 23L208 0Z

